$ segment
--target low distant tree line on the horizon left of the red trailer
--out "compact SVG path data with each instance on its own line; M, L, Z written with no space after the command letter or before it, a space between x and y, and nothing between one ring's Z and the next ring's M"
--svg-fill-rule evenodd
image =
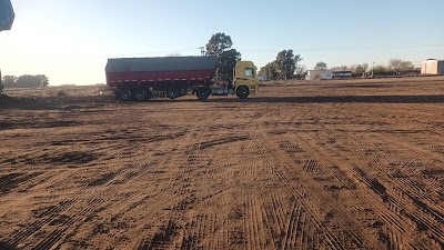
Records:
M20 77L4 76L2 78L2 84L4 88L36 88L36 87L48 87L49 78L44 74L23 74Z

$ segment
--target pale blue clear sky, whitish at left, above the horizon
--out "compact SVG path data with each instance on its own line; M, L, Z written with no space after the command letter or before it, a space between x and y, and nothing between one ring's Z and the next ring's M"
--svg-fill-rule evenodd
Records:
M104 83L108 58L200 56L224 32L258 68L292 49L313 69L444 59L443 0L11 0L2 74L51 86Z

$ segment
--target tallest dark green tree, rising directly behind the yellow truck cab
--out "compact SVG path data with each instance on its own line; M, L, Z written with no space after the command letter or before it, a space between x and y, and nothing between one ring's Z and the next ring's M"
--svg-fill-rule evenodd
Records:
M233 78L233 69L238 60L241 59L241 53L235 49L231 49L233 42L230 36L223 32L211 36L206 43L206 56L216 56L219 58L219 77Z

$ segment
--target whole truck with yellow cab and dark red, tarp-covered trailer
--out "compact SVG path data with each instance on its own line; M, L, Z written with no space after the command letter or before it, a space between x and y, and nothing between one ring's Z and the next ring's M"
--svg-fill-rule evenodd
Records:
M233 79L216 77L218 69L215 56L113 58L108 59L105 74L107 86L121 101L176 99L190 93L199 100L229 94L245 99L258 93L258 69L252 61L238 61Z

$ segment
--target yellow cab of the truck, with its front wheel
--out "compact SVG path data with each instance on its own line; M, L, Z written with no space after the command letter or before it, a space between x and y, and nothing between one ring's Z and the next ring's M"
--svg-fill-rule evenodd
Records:
M233 70L234 91L240 99L259 91L258 68L252 61L238 61Z

